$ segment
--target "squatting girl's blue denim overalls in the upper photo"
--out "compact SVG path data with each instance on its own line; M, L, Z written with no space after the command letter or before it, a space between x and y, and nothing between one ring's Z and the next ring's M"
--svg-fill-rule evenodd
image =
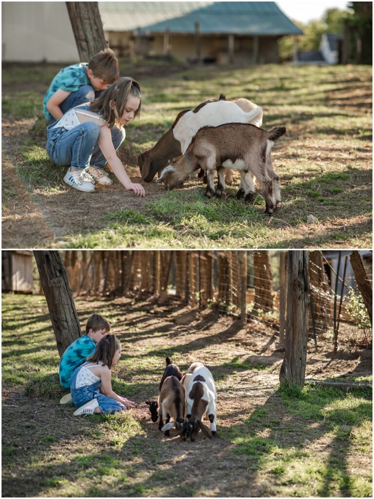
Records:
M76 109L90 111L89 106L84 105L76 106ZM47 154L53 163L60 166L71 165L82 170L90 165L103 169L107 160L97 143L100 134L99 123L103 122L85 121L67 130L63 126L59 127L58 121L47 127ZM113 126L111 134L114 149L117 151L125 140L125 129Z

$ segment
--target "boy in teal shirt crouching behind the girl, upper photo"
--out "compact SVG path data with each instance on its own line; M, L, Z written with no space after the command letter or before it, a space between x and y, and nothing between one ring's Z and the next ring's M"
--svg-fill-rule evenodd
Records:
M49 124L59 120L69 109L95 97L95 91L108 88L119 78L118 60L106 48L92 57L61 69L53 78L44 97L43 112Z

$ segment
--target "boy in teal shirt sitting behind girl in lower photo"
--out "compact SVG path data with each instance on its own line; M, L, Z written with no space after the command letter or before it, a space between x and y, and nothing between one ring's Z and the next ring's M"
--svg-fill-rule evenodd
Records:
M74 371L92 355L97 343L110 331L109 322L101 315L92 314L86 324L86 334L75 340L62 354L58 371L60 384L66 389L70 389L70 380ZM71 401L70 393L61 399L62 404Z

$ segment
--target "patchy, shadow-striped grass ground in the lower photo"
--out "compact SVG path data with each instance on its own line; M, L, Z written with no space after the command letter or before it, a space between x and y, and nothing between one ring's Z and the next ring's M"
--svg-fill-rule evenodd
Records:
M280 389L274 331L249 333L211 312L131 298L76 306L82 326L93 312L110 320L123 348L113 387L136 408L75 418L59 405L65 392L45 299L3 295L4 497L372 496L371 388ZM372 381L352 345L335 357L322 342L319 355L311 346L307 375ZM183 372L194 360L211 369L215 439L182 442L174 430L167 439L151 422L145 401L157 397L166 355Z

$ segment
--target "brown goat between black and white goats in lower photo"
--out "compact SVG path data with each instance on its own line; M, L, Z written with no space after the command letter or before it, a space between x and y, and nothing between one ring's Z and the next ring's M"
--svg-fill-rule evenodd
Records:
M175 426L180 430L185 422L186 400L185 388L176 376L164 380L159 396L159 430L169 437L170 429ZM173 423L170 419L173 418ZM186 436L181 434L183 440Z

